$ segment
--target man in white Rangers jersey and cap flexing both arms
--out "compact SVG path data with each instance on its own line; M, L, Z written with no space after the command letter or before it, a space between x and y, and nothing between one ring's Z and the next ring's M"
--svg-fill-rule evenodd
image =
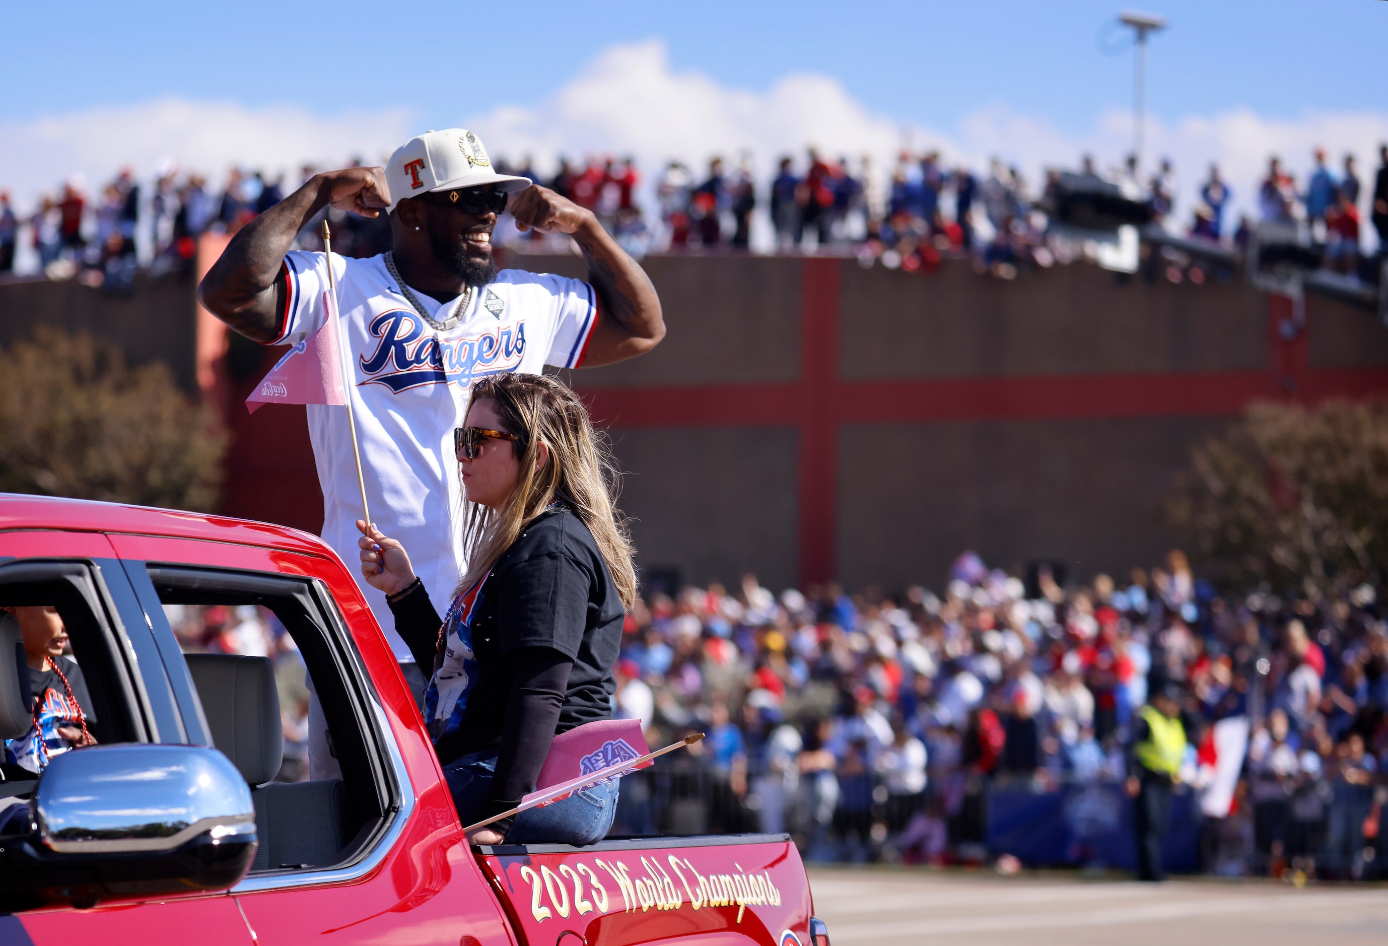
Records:
M586 282L497 271L491 232L508 201L520 229L573 236L589 263ZM318 331L326 317L328 257L290 247L329 204L365 217L390 214L391 253L332 257L340 338L354 375L348 396L372 518L418 556L416 572L443 614L466 564L452 429L462 424L472 379L539 374L547 364L604 365L650 351L665 336L661 303L591 211L527 178L497 174L477 136L452 128L411 139L386 168L315 175L255 217L203 278L203 306L262 345ZM361 500L347 411L311 404L308 428L323 492L323 540L357 563ZM408 664L384 596L358 568L350 571Z

